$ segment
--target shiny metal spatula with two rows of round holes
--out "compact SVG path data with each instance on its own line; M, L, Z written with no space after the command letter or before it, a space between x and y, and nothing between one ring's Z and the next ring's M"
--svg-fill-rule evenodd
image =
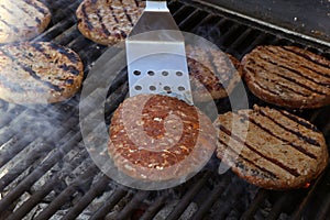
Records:
M146 1L125 46L131 97L163 94L193 105L184 36L166 1Z

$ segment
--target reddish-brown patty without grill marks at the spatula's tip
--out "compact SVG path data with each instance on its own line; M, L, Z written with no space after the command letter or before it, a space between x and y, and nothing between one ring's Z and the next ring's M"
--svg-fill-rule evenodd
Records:
M211 157L215 132L208 117L182 100L139 95L116 110L108 150L116 166L133 178L180 179Z

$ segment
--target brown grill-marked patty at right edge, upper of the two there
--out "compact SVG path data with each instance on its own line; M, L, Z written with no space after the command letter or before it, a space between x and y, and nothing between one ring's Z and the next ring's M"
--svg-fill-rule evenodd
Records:
M289 108L330 103L330 61L295 46L257 46L242 59L249 89Z

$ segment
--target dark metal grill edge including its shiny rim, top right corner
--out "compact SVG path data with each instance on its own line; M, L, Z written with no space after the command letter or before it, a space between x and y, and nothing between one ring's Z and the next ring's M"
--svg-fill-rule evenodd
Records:
M277 32L330 46L329 0L256 0L253 2L249 0L194 0L194 2Z

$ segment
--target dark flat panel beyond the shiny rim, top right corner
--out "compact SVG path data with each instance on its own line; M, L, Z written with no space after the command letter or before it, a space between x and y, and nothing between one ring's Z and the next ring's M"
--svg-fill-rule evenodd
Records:
M330 42L330 0L205 1L328 43Z

